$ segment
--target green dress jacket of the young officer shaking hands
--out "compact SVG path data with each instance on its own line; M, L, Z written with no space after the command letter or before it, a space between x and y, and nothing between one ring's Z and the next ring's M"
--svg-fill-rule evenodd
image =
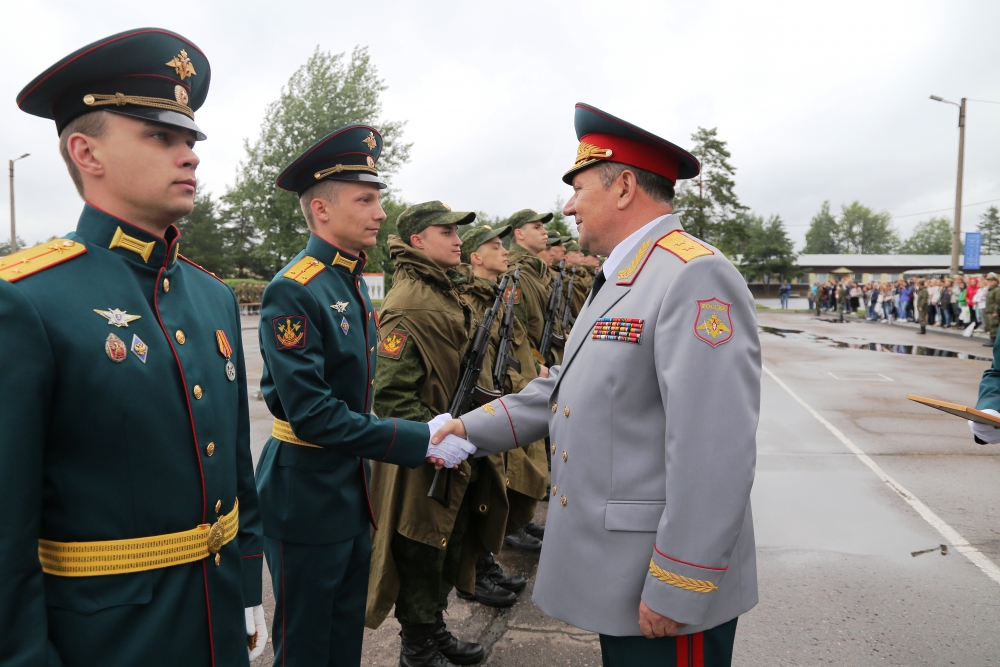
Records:
M365 261L310 236L264 290L261 392L272 415L319 447L264 445L257 489L268 537L329 544L362 534L374 521L365 459L414 467L427 456L426 423L371 414L378 326Z

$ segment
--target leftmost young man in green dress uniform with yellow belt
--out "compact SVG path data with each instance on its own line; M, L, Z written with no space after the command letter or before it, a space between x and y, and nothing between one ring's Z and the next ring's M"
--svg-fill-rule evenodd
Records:
M247 665L266 631L236 297L178 254L211 77L166 30L17 97L54 120L76 231L0 258L0 662ZM256 619L256 622L255 622Z

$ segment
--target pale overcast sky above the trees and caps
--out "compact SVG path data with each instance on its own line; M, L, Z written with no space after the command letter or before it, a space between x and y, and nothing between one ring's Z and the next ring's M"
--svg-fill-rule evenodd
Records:
M550 208L569 194L560 177L583 101L684 147L698 126L718 127L741 200L780 215L799 249L824 200L906 216L904 237L929 217L907 214L953 207L958 109L928 95L1000 101L996 0L4 2L0 160L31 153L16 165L26 241L73 229L81 203L54 124L15 96L73 50L145 26L184 35L212 63L197 151L214 193L317 45L365 45L389 87L385 117L407 121L414 144L394 179L406 201ZM1000 104L969 102L967 120L964 201L1000 199ZM963 228L987 206L966 207Z

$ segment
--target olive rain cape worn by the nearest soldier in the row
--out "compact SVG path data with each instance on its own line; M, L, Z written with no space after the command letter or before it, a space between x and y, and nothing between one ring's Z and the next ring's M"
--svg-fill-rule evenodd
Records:
M375 376L375 414L397 419L430 421L446 412L458 385L462 355L475 325L472 309L459 294L466 278L445 272L423 252L396 236L389 237L389 255L396 263L392 289L382 303L379 322L381 357ZM425 450L426 451L426 450ZM489 516L475 532L484 548L499 551L507 518L503 469L480 469L471 499L474 514ZM469 486L468 461L452 473L451 505L427 497L434 467L407 470L385 463L372 465L372 507L379 530L372 539L372 567L365 623L376 628L395 604L399 575L392 556L392 537L405 537L444 549ZM458 587L475 587L475 556L462 559Z

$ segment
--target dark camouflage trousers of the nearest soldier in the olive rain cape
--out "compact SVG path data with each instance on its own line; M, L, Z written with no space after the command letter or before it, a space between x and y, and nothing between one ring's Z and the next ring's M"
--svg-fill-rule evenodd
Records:
M479 462L469 461L472 463L471 487L479 477ZM448 608L448 595L458 580L462 542L469 527L468 499L472 495L466 489L445 549L411 540L398 532L392 536L392 558L399 572L395 616L401 624L434 623L435 615Z

